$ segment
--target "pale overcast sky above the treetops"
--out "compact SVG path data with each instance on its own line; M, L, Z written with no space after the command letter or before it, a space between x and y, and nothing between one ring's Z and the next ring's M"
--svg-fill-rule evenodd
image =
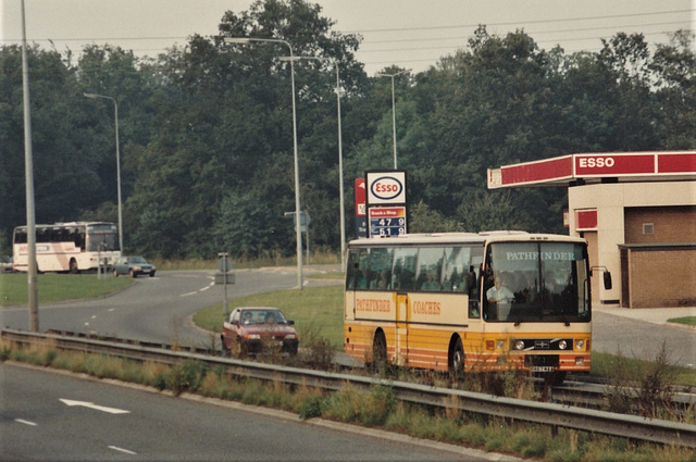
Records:
M46 49L111 43L157 57L194 34L211 36L225 11L252 0L24 0L26 38ZM478 24L505 36L523 29L543 49L597 51L601 38L696 29L696 0L314 0L334 30L363 37L357 59L369 75L397 65L414 73L465 48ZM21 0L0 0L0 43L22 40ZM291 42L291 38L290 38Z

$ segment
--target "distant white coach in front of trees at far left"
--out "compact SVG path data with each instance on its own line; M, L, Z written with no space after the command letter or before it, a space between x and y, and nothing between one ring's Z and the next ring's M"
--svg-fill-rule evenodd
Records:
M26 226L14 228L14 271L28 271ZM121 257L119 229L113 223L72 222L36 225L36 263L40 272L71 272L110 266Z

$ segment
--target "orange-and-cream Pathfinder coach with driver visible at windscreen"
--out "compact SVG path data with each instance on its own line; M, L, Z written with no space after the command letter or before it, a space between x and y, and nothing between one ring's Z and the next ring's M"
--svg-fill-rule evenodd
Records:
M344 349L370 364L589 372L587 244L523 232L406 235L348 245Z

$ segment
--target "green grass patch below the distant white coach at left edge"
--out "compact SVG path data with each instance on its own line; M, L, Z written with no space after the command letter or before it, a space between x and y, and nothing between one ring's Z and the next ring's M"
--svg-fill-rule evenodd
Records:
M97 277L97 274L37 275L39 300L44 303L99 298L120 290L130 284L128 277ZM27 275L25 273L0 274L0 307L26 304L28 302Z

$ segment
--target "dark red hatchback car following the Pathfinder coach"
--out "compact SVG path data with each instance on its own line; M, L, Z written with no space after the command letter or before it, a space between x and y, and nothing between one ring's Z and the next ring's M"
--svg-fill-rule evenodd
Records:
M222 348L225 353L245 357L277 348L283 353L297 354L299 339L294 321L288 321L277 308L239 307L229 313L222 326Z

